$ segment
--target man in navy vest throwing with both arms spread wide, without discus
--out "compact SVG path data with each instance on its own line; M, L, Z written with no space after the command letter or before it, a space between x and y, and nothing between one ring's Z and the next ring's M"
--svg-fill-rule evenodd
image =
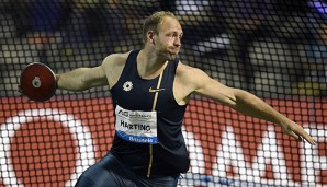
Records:
M303 137L315 144L301 126L262 100L183 65L178 58L182 35L172 13L157 12L144 23L143 49L110 55L95 68L57 74L58 89L63 90L109 85L115 108L111 150L76 186L177 186L180 173L190 166L181 125L191 94L279 124L296 140Z

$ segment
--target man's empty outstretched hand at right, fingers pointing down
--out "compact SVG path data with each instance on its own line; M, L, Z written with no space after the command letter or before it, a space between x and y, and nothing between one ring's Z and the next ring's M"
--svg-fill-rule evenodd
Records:
M281 125L283 132L293 137L297 141L302 141L304 138L307 142L315 145L316 140L314 140L300 125L295 122Z

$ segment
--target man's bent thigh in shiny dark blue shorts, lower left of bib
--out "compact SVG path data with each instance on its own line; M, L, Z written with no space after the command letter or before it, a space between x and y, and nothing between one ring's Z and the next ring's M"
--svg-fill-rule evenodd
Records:
M83 172L75 187L137 187L135 179L136 176L109 153Z

